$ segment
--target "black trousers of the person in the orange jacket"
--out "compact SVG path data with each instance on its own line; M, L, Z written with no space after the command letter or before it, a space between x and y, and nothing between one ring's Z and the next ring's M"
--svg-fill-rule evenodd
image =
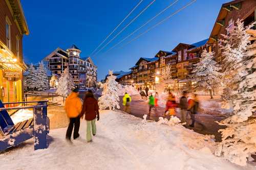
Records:
M74 128L75 126L75 128ZM79 136L79 127L80 127L80 117L74 117L74 118L70 118L70 122L69 122L69 127L67 129L67 133L66 133L66 138L71 139L71 135L72 135L72 131L74 128L74 134L73 137L74 139L77 138Z

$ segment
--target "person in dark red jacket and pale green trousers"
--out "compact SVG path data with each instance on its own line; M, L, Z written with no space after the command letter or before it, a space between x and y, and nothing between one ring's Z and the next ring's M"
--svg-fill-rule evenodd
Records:
M92 134L96 135L96 118L99 120L98 101L94 98L92 90L89 90L84 97L80 117L83 118L84 114L87 122L87 142L92 142Z

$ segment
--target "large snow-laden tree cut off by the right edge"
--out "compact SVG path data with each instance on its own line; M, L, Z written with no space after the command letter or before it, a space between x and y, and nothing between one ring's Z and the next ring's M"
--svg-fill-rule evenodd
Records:
M252 35L248 40L256 39L256 30L246 32ZM230 99L233 115L220 123L227 128L220 130L222 142L215 153L243 166L256 153L256 42L247 50L237 68L239 93Z

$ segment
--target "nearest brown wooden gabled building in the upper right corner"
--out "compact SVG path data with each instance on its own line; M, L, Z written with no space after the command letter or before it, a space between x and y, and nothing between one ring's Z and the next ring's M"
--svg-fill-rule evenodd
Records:
M210 33L207 44L213 46L212 50L216 53L216 61L222 64L222 51L220 48L220 39L223 39L221 34L229 34L236 21L242 19L244 25L247 26L253 21L256 21L256 1L255 0L236 0L222 5L215 25ZM254 26L256 29L256 26Z

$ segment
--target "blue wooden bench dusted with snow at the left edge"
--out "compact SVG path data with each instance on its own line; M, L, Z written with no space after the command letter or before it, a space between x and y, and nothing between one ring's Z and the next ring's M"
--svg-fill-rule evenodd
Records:
M34 137L34 149L47 148L47 134L49 133L49 117L47 117L47 102L36 101L29 103L37 103L35 106L4 108L4 104L0 100L0 152L10 147ZM28 102L15 102L15 104L23 104ZM10 103L8 103L10 104ZM33 118L19 122L16 125L8 114L7 110L13 109L33 109Z

